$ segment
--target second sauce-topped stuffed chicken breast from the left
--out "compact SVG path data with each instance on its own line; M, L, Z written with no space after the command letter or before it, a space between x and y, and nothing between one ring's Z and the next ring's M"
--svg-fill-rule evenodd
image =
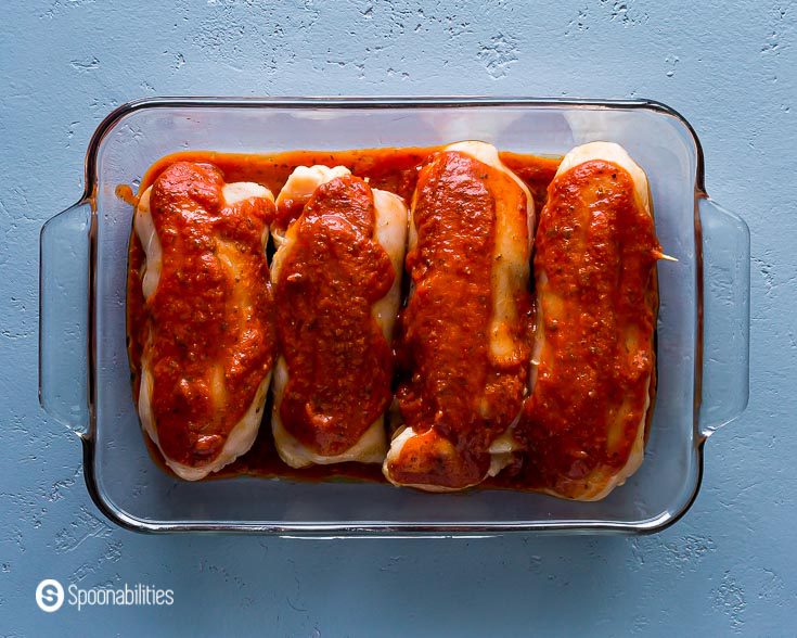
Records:
M385 458L408 212L345 167L298 167L277 201L271 417L293 468Z

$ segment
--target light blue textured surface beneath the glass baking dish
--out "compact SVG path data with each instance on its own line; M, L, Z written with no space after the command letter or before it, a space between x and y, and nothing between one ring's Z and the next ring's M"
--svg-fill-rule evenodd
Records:
M0 21L0 635L797 634L797 4L580 0L261 7L12 0ZM554 4L557 4L554 7ZM152 94L647 97L681 111L707 189L753 233L751 393L703 492L642 537L291 540L136 535L37 403L38 231L88 139ZM172 608L64 607L44 577L149 583Z

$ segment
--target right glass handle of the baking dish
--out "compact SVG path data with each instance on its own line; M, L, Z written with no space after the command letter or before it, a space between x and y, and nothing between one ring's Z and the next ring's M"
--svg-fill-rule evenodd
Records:
M700 434L708 437L747 407L750 342L750 231L707 195L703 233Z

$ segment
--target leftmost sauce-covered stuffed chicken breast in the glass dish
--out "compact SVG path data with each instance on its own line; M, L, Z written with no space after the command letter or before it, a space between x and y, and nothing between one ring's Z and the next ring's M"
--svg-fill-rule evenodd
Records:
M138 409L182 478L216 472L257 435L275 354L265 245L271 192L179 162L142 193L144 343Z

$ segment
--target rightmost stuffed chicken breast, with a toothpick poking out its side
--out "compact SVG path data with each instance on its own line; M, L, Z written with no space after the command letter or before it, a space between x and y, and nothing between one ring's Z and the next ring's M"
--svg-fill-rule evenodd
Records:
M536 239L529 486L596 500L640 467L654 392L656 260L647 178L619 145L565 155Z

